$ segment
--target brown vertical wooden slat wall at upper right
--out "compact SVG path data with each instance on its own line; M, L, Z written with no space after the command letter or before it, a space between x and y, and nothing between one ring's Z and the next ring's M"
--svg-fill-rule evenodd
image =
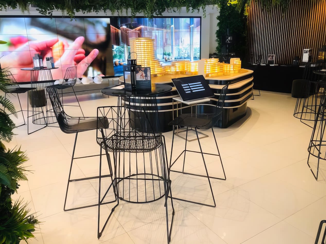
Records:
M275 63L292 63L294 56L302 59L303 49L313 49L313 61L318 49L326 45L326 0L292 0L283 14L280 7L266 11L258 1L248 8L248 61L256 62L262 55L275 54ZM253 59L253 60L252 60Z

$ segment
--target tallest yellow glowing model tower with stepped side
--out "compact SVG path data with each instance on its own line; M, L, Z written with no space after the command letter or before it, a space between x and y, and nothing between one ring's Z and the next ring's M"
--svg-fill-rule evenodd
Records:
M151 67L152 75L164 73L163 66L155 58L155 40L150 37L129 38L131 59L136 59L142 67ZM134 52L134 53L133 53Z

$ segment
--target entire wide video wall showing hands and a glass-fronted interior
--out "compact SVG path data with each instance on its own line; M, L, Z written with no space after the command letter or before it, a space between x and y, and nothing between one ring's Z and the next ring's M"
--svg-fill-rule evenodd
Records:
M176 60L200 59L200 17L196 18L0 18L0 64L17 82L30 81L35 53L53 57L62 79L68 67L77 66L77 77L123 75L130 54L130 37L155 39L156 59L163 65Z

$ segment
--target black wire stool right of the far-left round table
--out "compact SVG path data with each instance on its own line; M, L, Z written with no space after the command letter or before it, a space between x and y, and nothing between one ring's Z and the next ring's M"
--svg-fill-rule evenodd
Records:
M57 88L57 89L61 90L61 100L62 100L62 105L63 106L79 107L80 110L82 111L81 105L80 105L80 103L78 101L76 92L74 90L74 86L76 84L76 81L77 81L77 67L73 66L73 67L67 68L66 74L65 74L65 76L63 78L63 83L62 84L56 84L56 85L52 85L52 86L49 86L49 87ZM72 88L73 93L75 94L76 100L78 102L78 105L64 105L64 103L63 103L63 89L67 89L67 88ZM82 115L84 116L83 112L82 112Z

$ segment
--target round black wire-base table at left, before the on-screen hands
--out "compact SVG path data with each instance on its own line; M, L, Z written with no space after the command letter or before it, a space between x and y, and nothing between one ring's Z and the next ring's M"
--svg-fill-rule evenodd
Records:
M27 121L27 133L31 134L37 130L43 129L44 127L54 124L57 122L53 112L51 102L47 101L46 87L53 85L53 78L51 74L54 68L22 68L21 70L30 71L31 73L31 87L36 88L28 93L29 104L32 108L32 115L29 115L29 109L27 109L27 120L32 117L33 124L44 125L41 128L29 132L29 125ZM44 109L45 107L45 109ZM44 111L45 110L45 111Z

